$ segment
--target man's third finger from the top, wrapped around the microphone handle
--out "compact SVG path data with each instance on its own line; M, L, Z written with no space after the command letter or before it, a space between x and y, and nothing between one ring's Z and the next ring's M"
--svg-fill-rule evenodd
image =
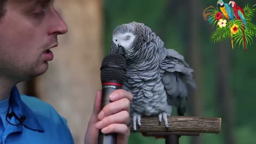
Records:
M120 111L119 113L116 113L114 115L107 116L103 118L101 121L95 124L97 129L102 129L103 127L106 127L110 124L128 124L130 122L130 115L128 111Z

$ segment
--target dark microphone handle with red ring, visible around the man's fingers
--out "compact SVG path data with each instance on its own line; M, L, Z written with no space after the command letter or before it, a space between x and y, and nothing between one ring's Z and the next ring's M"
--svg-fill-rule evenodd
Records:
M111 102L109 95L118 89L122 89L122 85L119 82L102 82L101 109ZM116 144L116 133L103 134L101 131L99 131L98 144Z

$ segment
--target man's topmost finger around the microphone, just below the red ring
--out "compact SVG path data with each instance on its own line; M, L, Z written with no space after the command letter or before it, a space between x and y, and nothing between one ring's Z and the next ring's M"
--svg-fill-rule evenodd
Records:
M111 93L109 95L109 99L111 101L117 101L117 100L123 99L123 98L127 98L130 101L132 101L132 98L133 98L132 93L125 91L123 89L119 89L119 90L115 90L113 93Z

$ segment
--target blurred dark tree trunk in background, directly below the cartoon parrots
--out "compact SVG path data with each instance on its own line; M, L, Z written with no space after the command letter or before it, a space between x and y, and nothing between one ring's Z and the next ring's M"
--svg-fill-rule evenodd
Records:
M218 46L217 103L222 115L225 143L234 144L233 96L229 84L231 44L223 42Z

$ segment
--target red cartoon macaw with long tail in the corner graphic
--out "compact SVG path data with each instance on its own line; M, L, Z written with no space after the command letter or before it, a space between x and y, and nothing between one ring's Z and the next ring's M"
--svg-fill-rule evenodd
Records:
M247 49L246 49L246 41L245 41L245 34L244 34L244 30L245 30L245 27L246 27L246 21L245 21L244 10L242 9L241 6L238 6L238 5L236 4L236 2L234 2L234 1L230 1L230 2L229 2L229 5L233 8L235 17L236 17L238 20L242 20L243 23L244 23L244 27L243 27L243 29L242 29L242 31L243 31L243 42L244 42L244 51L247 51Z

